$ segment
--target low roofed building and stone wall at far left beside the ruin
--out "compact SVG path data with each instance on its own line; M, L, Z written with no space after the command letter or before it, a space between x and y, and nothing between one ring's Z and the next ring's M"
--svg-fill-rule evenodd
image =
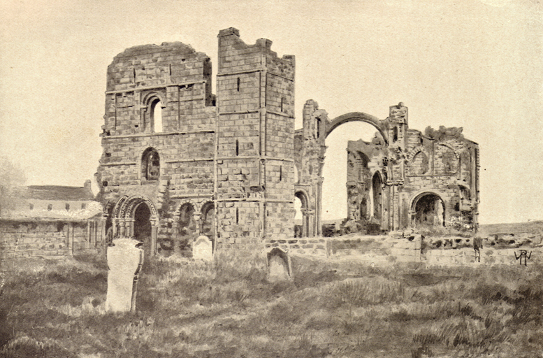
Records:
M18 188L15 208L0 217L1 258L103 252L105 220L90 185Z

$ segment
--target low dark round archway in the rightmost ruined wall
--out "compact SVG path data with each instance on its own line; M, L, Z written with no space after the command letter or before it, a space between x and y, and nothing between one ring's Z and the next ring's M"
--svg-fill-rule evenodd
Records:
M412 201L412 227L436 229L445 227L445 204L441 196L426 192Z

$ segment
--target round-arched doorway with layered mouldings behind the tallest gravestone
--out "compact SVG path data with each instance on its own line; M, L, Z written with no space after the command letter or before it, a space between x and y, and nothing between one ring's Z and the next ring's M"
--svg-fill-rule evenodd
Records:
M134 238L143 243L145 255L157 252L159 215L145 196L122 196L113 209L113 237Z

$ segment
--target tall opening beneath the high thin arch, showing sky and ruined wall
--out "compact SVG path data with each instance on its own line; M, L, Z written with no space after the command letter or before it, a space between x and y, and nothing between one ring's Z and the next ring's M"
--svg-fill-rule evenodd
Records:
M356 143L356 148L350 148L349 143ZM379 131L365 122L341 124L326 138L322 172L324 235L332 234L331 227L343 234L380 231L383 180L375 172L381 159L374 157L372 150L372 145L380 143L384 144L384 139Z

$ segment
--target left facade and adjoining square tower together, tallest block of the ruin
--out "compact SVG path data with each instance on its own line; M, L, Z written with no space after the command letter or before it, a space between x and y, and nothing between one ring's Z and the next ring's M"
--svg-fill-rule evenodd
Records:
M217 98L208 56L182 43L129 48L108 66L97 182L108 237L148 253L291 236L294 57L219 33Z

